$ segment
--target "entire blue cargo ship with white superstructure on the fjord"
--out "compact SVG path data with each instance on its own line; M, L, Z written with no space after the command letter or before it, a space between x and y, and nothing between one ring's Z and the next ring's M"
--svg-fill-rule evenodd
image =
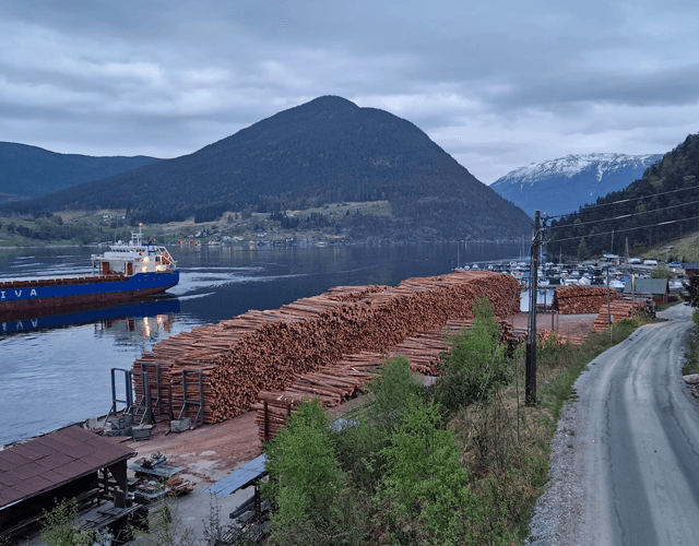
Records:
M143 242L140 229L93 254L92 264L91 276L0 282L0 320L133 301L179 282L177 262L165 247Z

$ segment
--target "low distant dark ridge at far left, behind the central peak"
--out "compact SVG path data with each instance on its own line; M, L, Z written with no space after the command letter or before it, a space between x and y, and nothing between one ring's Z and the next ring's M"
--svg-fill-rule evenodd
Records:
M159 161L142 155L91 157L57 154L36 146L0 142L0 202L54 193Z

